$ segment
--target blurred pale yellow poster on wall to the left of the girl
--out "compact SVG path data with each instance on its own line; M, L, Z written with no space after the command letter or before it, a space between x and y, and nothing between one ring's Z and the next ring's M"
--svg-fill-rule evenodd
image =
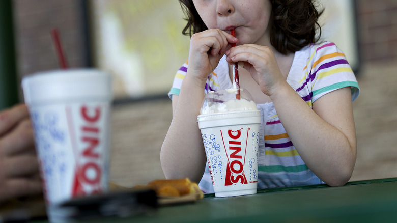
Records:
M116 98L166 94L188 58L178 1L91 1L95 66L114 76Z

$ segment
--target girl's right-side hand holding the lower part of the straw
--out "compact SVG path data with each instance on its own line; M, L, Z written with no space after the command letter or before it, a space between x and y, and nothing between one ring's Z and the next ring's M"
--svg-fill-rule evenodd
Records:
M277 86L285 83L273 51L267 46L245 44L231 48L225 53L229 64L236 62L246 69L258 83L261 91L269 97Z

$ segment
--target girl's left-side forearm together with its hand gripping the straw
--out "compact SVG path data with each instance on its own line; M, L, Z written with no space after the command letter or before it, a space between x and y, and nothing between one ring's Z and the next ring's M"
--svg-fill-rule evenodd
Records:
M191 37L189 65L179 96L173 96L173 120L161 147L160 161L167 179L203 177L206 155L197 116L204 99L208 75L216 68L231 43L238 40L218 29Z

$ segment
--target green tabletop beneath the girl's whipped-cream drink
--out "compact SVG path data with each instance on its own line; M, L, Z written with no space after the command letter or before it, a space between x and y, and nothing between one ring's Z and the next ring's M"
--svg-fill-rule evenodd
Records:
M259 190L160 207L115 222L397 222L397 178ZM112 220L113 222L113 220Z

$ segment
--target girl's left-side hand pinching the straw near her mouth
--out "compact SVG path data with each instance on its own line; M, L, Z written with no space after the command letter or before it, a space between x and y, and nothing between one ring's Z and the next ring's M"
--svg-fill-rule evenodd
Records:
M205 81L226 50L237 42L237 38L219 29L194 34L190 40L189 73Z

